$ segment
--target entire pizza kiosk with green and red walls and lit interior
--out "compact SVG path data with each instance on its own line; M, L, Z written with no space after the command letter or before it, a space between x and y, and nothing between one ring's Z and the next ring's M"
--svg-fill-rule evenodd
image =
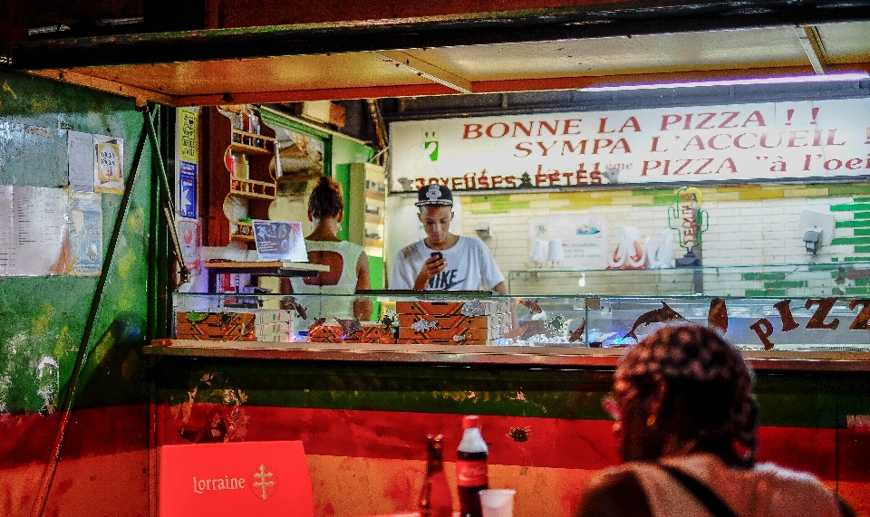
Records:
M164 447L288 441L315 515L414 512L466 415L517 515L573 512L619 359L691 321L755 369L759 461L870 515L865 5L144 4L5 17L5 512L160 515ZM259 241L324 175L371 291L281 292L323 267ZM433 183L507 296L391 291Z

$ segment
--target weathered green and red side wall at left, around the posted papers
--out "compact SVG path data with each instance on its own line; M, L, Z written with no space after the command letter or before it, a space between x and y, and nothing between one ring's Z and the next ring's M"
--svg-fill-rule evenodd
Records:
M132 100L0 73L0 185L65 187L69 130L124 139L123 172L129 179L143 130ZM102 194L104 254L115 222L121 216L123 222L111 263L103 261L108 276L87 343L82 336L97 276L0 277L0 426L6 453L0 455L0 468L11 469L0 475L0 493L5 511L13 515L29 514L38 486L34 481L50 457L56 411L82 346L87 356L45 512L84 514L81 505L91 504L92 514L147 515L150 390L141 349L150 340L149 329L156 328L150 302L156 278L150 264L156 262L150 256L159 253L151 167L146 145L126 215L119 214L120 195ZM45 366L46 359L59 368ZM119 407L124 409L113 409ZM99 476L82 473L89 462L88 469L103 469ZM125 493L123 498L95 497L102 490L94 491L94 479L103 476L117 483L114 489Z

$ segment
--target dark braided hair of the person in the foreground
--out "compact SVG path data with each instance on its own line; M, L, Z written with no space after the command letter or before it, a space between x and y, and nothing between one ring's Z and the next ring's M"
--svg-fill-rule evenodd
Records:
M755 464L755 374L739 349L701 325L664 327L625 354L614 379L645 395L656 376L667 383L660 416L674 436L694 442L696 450L719 455L727 464Z

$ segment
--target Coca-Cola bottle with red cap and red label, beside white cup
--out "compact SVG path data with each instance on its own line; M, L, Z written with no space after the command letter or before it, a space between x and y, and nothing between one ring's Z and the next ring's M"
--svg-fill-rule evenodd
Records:
M477 416L462 418L462 440L456 451L456 487L459 492L459 517L480 517L478 492L488 488L489 447L480 435Z

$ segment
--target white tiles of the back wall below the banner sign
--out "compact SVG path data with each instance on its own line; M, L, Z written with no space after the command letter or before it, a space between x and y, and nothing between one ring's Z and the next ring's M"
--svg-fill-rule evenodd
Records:
M527 270L531 267L528 263L529 220L548 212L550 215L558 214L558 209L551 209L560 204L565 205L564 200L548 200L540 194L527 196L532 207L512 209L506 214L473 214L469 196L456 196L457 216L451 230L460 235L476 237L475 228L480 224L488 224L491 238L484 239L484 243L506 277L510 271ZM511 196L511 200L523 199L523 195ZM414 198L396 196L391 196L388 200L388 267L391 267L392 259L401 246L424 236L416 218L414 201ZM607 222L609 254L614 253L616 236L621 226L637 227L642 243L647 236L657 242L661 238L662 230L668 227L668 206L634 206L630 196L615 196L611 202L613 204L588 210L603 215ZM709 216L710 226L702 235L703 263L705 266L751 266L830 263L835 257L842 260L843 256L854 254L852 245L822 246L814 257L805 250L797 221L802 210L827 213L832 205L852 202L852 197L705 201L702 208ZM850 212L834 212L834 215L837 221L852 217ZM837 228L834 236L849 237L852 232L848 228ZM673 254L674 257L681 257L684 251L674 244ZM551 288L558 290L561 287L559 283L563 281L551 278L550 282L555 282ZM546 284L539 286L543 289Z

